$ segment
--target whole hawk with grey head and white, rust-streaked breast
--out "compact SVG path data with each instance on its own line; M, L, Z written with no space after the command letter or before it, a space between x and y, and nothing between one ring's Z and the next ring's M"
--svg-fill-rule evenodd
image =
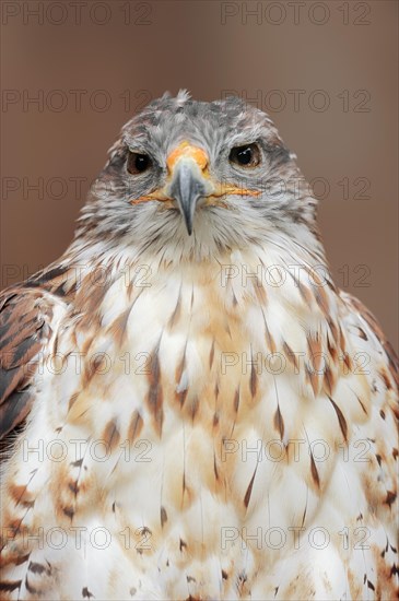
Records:
M270 118L166 94L2 293L2 599L394 599L398 364Z

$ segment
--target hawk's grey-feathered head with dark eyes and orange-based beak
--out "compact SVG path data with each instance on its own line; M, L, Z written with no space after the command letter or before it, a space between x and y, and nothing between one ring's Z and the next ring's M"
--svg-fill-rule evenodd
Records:
M78 238L201 258L282 234L317 244L295 158L269 116L237 97L165 94L122 128Z

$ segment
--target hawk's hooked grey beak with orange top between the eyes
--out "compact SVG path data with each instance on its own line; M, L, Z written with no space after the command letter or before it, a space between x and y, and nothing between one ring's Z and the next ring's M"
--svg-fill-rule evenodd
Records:
M208 162L206 152L188 142L181 142L166 161L171 174L166 193L176 200L189 236L192 234L198 200L210 196L214 190L210 181Z

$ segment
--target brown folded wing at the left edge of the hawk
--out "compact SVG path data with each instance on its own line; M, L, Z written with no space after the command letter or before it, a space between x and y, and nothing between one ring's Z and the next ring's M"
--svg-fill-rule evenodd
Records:
M67 274L67 266L51 264L0 294L1 441L31 411L39 360L75 290Z

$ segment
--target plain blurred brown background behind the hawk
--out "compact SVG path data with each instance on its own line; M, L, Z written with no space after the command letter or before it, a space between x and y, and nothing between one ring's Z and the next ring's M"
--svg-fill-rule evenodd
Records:
M269 111L320 200L337 283L398 347L398 3L14 2L2 11L4 287L71 240L122 123L165 90Z

